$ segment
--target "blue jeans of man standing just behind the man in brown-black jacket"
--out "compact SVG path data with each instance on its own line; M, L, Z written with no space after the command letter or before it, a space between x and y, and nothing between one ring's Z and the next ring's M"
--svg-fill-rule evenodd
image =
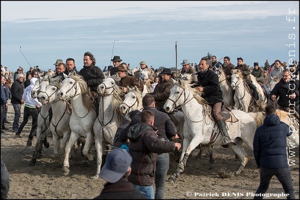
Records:
M169 153L158 154L156 160L155 199L165 199L165 179L169 170Z

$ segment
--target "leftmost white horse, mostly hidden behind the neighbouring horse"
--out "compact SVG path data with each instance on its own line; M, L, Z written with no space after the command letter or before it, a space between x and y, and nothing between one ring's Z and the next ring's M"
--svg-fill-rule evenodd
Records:
M38 78L35 82L33 89L31 90L31 97L38 98L40 92L44 92L49 85L50 76L44 76L44 78ZM49 148L49 142L47 142L47 133L51 133L49 124L49 109L51 105L42 105L40 113L38 115L38 127L36 131L37 142L35 143L35 151L33 151L33 158L30 165L35 165L36 160L42 157L42 146Z

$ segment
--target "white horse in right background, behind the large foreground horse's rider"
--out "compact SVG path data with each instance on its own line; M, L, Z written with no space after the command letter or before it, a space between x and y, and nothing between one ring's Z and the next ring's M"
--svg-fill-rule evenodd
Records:
M250 74L251 81L253 85L256 86L258 92L258 102L260 106L256 106L256 103L252 100L252 95L249 90L246 89L244 85L244 78L242 72L239 69L233 69L233 74L231 75L231 89L235 90L234 101L235 109L240 109L246 113L257 112L259 109L263 110L267 105L267 98L263 93L263 88L257 83L256 78Z

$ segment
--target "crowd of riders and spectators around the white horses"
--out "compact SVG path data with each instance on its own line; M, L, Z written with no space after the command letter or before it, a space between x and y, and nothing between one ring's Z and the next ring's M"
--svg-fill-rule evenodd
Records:
M176 126L172 122L172 115L167 115L165 110L163 110L163 105L169 97L174 80L177 78L193 83L193 87L201 93L201 97L211 106L213 117L223 135L222 145L224 146L231 142L231 138L229 138L227 133L224 117L221 115L223 97L216 73L220 67L222 67L222 70L226 74L228 83L231 83L233 69L239 69L244 76L244 81L247 82L253 91L253 98L257 100L256 86L253 85L249 78L250 74L252 74L258 83L261 83L261 86L265 90L265 95L269 97L269 101L277 101L279 109L286 110L289 108L295 110L299 116L299 80L295 78L297 75L299 76L299 63L297 64L296 60L289 66L286 63L281 63L280 60L275 60L272 65L269 65L268 60L266 60L264 67L259 67L258 63L253 63L253 67L250 67L244 63L243 58L237 58L237 65L235 66L231 63L231 58L228 56L224 57L224 63L222 63L221 60L217 60L216 56L211 56L208 53L208 56L200 59L199 65L189 63L188 60L183 60L181 63L182 69L178 71L178 74L167 68L158 72L152 66L148 67L145 61L141 61L138 71L133 72L129 64L122 63L120 56L114 56L111 61L113 61L113 66L105 67L101 70L96 65L94 55L88 51L83 54L83 67L80 70L76 69L73 58L67 58L65 63L62 59L56 60L56 63L53 64L56 69L49 69L47 73L41 72L38 69L39 67L35 66L31 67L26 73L24 73L22 67L19 67L13 74L8 71L7 67L1 66L1 134L5 133L5 130L8 130L6 124L10 123L7 121L8 100L10 99L10 103L15 111L12 131L15 132L16 137L21 137L22 130L28 122L28 117L31 116L33 119L26 147L32 145L31 141L37 128L39 109L42 106L38 99L31 97L31 89L40 76L45 74L49 74L52 77L59 76L63 81L69 73L79 74L87 83L91 93L94 93L93 97L97 101L97 108L99 108L100 97L97 94L97 86L102 83L104 78L108 76L119 77L117 85L122 88L124 93L128 92L128 87L137 87L142 92L145 86L140 75L143 72L147 72L149 75L148 78L151 81L151 92L146 94L142 99L144 110L135 113L135 116L132 116L131 122L126 122L122 126L122 129L118 129L117 140L119 141L115 141L114 143L120 145L108 154L106 163L99 174L108 183L104 185L101 194L99 197L95 197L95 199L108 197L164 199L165 178L169 169L168 153L181 149L180 140L176 140L179 137L176 134ZM280 81L276 83L274 88L269 88L269 82L276 76ZM19 126L23 104L24 121ZM260 194L267 191L269 179L274 174L276 175L277 172L281 174L290 173L287 160L285 159L286 151L285 155L283 155L283 150L279 151L278 149L278 154L270 156L267 149L260 148L260 142L265 142L262 138L265 136L261 135L266 133L272 135L269 130L273 130L277 126L281 128L281 135L286 137L289 134L288 129L283 127L284 125L278 123L270 124L267 121L276 118L273 116L274 107L266 107L266 112L265 123L263 127L258 128L258 133L256 133L253 142L256 163L258 167L261 167L261 182L260 188L257 191ZM271 117L270 119L269 116ZM272 145L276 146L277 143L274 142ZM286 142L281 143L281 147L286 145ZM281 158L281 160L276 160L278 165L264 164L265 162L262 162L260 159L262 156L267 156L270 162L273 162L272 160L276 160L277 158ZM287 169L278 169L282 167ZM272 171L269 171L269 168L272 168ZM290 174L288 177L290 177ZM278 179L285 181L284 183L281 181L283 188L293 198L294 190L290 178ZM153 190L153 183L156 186L155 191ZM5 195L2 196L2 179L1 197L6 197Z

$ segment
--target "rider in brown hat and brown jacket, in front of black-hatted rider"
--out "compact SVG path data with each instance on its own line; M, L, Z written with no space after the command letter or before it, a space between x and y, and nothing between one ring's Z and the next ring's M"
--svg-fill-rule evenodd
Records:
M138 81L133 77L133 76L128 76L126 74L127 69L125 69L124 66L119 65L119 67L117 67L117 69L115 69L115 71L117 72L117 74L119 75L119 77L121 77L121 80L117 83L117 85L119 85L120 87L122 87L122 91L124 93L127 93L127 86L129 88L133 88L134 86L137 86L137 88L140 90L140 84L138 83ZM141 91L142 92L142 91Z

